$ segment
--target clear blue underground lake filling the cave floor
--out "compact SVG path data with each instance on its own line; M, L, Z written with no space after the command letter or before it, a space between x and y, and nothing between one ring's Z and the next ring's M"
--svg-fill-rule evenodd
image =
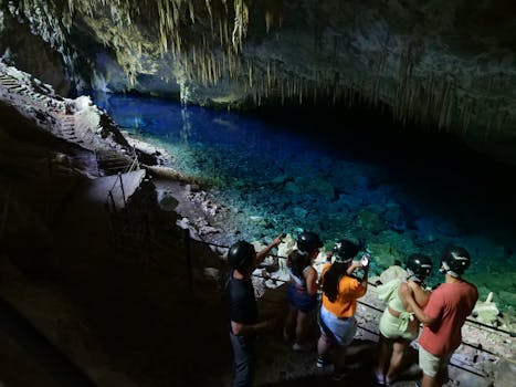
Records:
M446 244L460 244L481 296L493 291L505 311L516 307L515 169L446 134L367 111L244 115L138 96L94 100L120 127L166 148L173 168L207 181L230 210L229 241L302 229L327 247L350 237L372 251L377 271L417 251L438 265ZM434 272L433 284L442 281Z

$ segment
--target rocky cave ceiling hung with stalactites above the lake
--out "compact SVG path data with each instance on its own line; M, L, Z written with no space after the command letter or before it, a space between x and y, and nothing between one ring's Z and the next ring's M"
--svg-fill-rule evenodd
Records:
M470 138L516 138L510 0L0 3L4 59L30 67L43 41L24 70L49 62L55 74L57 55L80 91L230 107L361 102Z

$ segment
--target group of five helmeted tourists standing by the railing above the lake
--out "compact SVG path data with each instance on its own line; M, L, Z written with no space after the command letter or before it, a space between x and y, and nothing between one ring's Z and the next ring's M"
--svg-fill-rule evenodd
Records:
M259 318L251 275L281 242L282 236L278 236L256 253L251 243L240 241L228 252L232 268L225 286L234 357L232 386L252 385L256 334L276 325L274 320ZM326 254L327 262L319 276L313 263L322 248L323 241L316 233L302 232L296 249L287 258L289 312L283 333L286 341L294 341L294 351L316 348L316 367L333 365L333 379L340 380L346 376L346 347L357 331L357 299L367 292L370 257L365 253L356 260L359 245L347 239L339 240ZM445 281L430 291L424 280L432 272L432 261L414 253L406 260L404 279L393 279L378 286L378 296L387 303L379 323L375 366L379 386L389 386L397 380L407 348L418 336L419 366L423 373L421 386L434 387L446 383L451 355L462 342L462 325L478 299L476 287L462 279L470 262L470 254L464 248L447 248L440 265ZM312 334L315 320L318 325L316 345ZM420 325L423 326L421 334Z

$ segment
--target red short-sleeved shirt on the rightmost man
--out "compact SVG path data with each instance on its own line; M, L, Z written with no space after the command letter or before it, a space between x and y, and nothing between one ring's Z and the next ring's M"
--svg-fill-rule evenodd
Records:
M419 344L434 356L453 353L462 342L461 328L478 300L468 282L443 283L430 295L424 314L436 318L423 327Z

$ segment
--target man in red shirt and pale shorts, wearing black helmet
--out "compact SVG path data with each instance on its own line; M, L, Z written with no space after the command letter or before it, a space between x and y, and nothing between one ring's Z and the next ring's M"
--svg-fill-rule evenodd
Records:
M461 278L470 261L470 253L464 248L451 247L444 252L441 272L445 273L445 281L432 292L424 311L419 307L409 286L401 289L402 296L424 325L419 338L422 387L446 383L447 364L462 342L462 325L478 300L475 285Z

